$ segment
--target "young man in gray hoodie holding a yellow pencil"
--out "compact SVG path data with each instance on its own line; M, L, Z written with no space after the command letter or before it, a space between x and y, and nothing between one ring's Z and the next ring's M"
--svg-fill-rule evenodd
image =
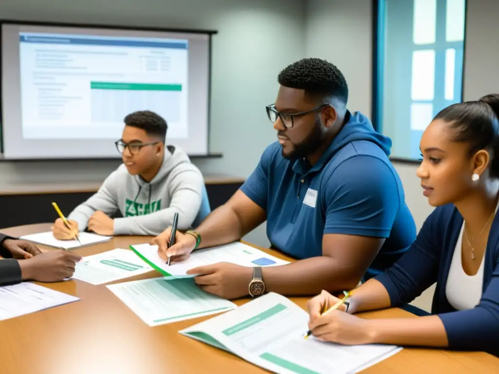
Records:
M179 229L189 228L200 211L204 178L179 147L165 146L167 123L150 111L129 114L116 148L120 165L99 190L68 216L58 218L57 239L74 238L88 228L101 235L158 235L179 213ZM109 215L120 210L122 218ZM204 217L202 217L204 218Z

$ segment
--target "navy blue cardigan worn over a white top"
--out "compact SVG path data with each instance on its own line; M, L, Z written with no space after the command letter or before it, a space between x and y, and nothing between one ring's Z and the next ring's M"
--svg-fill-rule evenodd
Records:
M499 357L499 214L489 233L480 304L456 311L445 288L462 225L463 216L453 204L436 208L407 252L375 279L385 286L392 306L411 302L437 282L432 314L444 323L449 348Z

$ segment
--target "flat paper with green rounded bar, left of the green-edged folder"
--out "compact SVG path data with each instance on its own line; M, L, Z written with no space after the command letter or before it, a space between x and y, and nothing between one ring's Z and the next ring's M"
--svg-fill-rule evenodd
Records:
M131 250L116 248L83 257L80 262L76 263L73 278L99 285L130 278L152 270L152 267Z

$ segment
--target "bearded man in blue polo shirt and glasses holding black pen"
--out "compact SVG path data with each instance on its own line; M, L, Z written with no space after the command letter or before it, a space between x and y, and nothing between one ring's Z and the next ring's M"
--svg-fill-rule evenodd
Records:
M278 142L250 178L196 229L153 239L159 255L182 261L195 248L241 239L267 221L272 247L298 259L245 268L218 263L190 270L207 292L226 299L263 292L310 295L349 290L390 267L414 241L416 227L388 159L391 141L346 108L348 86L331 63L307 58L278 76L267 115Z

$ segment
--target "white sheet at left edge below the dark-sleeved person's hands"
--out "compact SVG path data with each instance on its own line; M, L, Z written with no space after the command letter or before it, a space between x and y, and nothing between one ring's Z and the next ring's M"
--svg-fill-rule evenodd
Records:
M77 297L23 282L0 287L0 321L72 303Z

